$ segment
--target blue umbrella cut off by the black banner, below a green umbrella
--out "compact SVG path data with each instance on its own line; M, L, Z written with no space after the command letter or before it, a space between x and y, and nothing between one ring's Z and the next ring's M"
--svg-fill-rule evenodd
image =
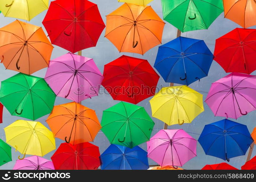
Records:
M102 170L146 170L149 168L147 152L139 146L111 144L100 156Z

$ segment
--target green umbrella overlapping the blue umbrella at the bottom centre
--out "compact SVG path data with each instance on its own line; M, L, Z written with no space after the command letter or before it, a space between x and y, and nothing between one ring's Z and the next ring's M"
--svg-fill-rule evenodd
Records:
M120 102L103 111L101 130L112 144L133 148L149 141L155 123L144 107Z

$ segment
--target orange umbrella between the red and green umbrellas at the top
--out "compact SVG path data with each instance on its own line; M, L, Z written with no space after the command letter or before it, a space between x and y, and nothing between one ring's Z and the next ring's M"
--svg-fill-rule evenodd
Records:
M143 55L162 42L165 23L151 6L124 3L106 19L105 37L120 52Z

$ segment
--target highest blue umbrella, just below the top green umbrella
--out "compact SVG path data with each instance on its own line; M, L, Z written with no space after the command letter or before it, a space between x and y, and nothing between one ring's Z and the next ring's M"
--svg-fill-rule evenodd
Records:
M213 57L203 40L178 37L158 48L154 67L165 82L189 85L208 75Z

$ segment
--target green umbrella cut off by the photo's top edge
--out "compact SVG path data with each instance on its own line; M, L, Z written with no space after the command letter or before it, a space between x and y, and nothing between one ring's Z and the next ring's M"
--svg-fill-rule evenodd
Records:
M162 0L163 19L181 32L207 29L224 11L222 0Z

